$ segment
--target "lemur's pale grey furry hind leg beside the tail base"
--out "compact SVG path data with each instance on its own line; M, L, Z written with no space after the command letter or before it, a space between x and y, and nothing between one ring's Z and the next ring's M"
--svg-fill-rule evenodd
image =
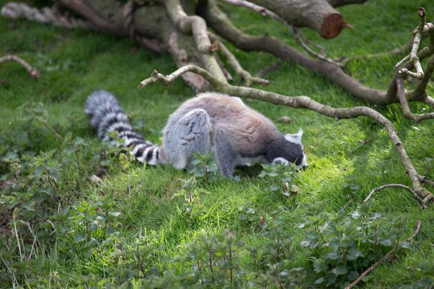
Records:
M166 128L163 140L168 162L175 168L188 168L191 152L211 150L211 121L205 110L197 108Z

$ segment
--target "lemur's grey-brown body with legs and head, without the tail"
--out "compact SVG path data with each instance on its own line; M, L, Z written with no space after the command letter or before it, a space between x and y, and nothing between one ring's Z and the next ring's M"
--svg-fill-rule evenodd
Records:
M186 100L169 117L163 134L168 162L177 168L189 166L191 151L213 151L226 176L232 176L235 166L258 162L307 166L301 130L285 136L240 98L224 94L199 94Z

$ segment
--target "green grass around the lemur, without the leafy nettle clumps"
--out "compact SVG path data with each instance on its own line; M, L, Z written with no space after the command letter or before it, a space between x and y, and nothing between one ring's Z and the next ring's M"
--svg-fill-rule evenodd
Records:
M3 3L6 2L0 1L1 6ZM354 29L344 30L336 39L322 40L309 29L303 31L311 40L324 45L333 57L390 51L410 40L410 31L418 22L416 10L419 6L424 6L428 19L433 19L432 1L372 0L364 5L339 9ZM246 28L247 33L270 31L297 47L275 21L264 20L238 8L228 12L236 25ZM259 21L260 26L257 25ZM10 24L15 28L10 28ZM123 243L124 249L134 248L135 243L143 240L149 240L154 250L159 248L155 256L149 257L150 260L155 258L159 270L186 272L191 267L174 263L173 258L184 254L201 236L221 234L229 229L247 246L265 244L267 226L259 225L260 217L268 225L280 224L281 230L294 239L290 266L304 266L307 277L301 281L301 287L312 287L316 278L306 254L309 250L300 246L307 230L297 227L306 221L306 205L320 201L324 212L333 213L348 203L346 211L349 212L357 209L376 186L410 185L388 134L371 119L336 122L307 110L245 100L275 123L280 116L290 116L290 124L277 123L281 132L304 129L303 143L310 166L293 179L299 191L293 198L282 198L267 190L269 179L257 177L261 167L239 168L236 170L236 174L241 175L239 182L221 177L216 182L200 182L198 188L202 194L193 204L197 214L187 218L180 213L184 198L176 194L182 190L182 180L191 177L191 173L167 166L144 168L136 162L123 161L116 152L110 154L110 148L96 139L83 111L83 103L91 91L112 91L138 131L146 139L161 143L160 132L168 115L177 105L193 97L193 91L181 80L167 87L157 83L139 90L136 86L153 69L162 73L173 71L175 66L169 55L144 50L132 53L134 44L130 40L112 35L3 17L0 18L0 39L0 55L17 54L41 71L41 78L33 80L16 63L0 64L0 79L7 80L6 84L0 85L1 182L10 179L13 169L6 161L8 152L15 152L21 159L22 175L28 178L26 186L0 193L0 288L11 288L15 280L14 286L24 288L103 288L121 281L131 284L134 276L136 279L143 276L131 275L134 268L128 264L134 264L132 255L125 254L126 260L122 263L125 267L116 263L119 244ZM246 53L233 47L232 50L252 74L279 62L266 53ZM348 70L365 85L385 89L394 73L394 64L402 57L356 60L349 64ZM333 107L368 105L383 113L394 123L418 172L434 179L433 121L415 124L403 118L399 105L370 105L317 73L286 62L267 78L270 85L265 89L279 94L306 95ZM432 82L427 92L431 96L434 94ZM70 144L62 143L35 118L29 119L26 107L33 103L42 103L47 113L46 123L60 136L70 132L72 141L76 137L84 139L85 146L78 150L81 177L75 155L65 152ZM429 110L421 104L412 103L410 107L413 112ZM372 141L361 145L359 141L365 139ZM51 173L59 170L57 191L51 188L43 174L32 179L35 166L46 168L41 164L32 166L32 158L50 150L56 150L53 159L57 162L51 164ZM27 160L26 155L30 156ZM92 182L92 175L100 176L101 182ZM36 202L40 206L28 202L41 192L41 188L50 192L49 197L44 195L44 201ZM12 205L8 196L13 195L15 189L19 199ZM26 193L35 195L29 197ZM114 232L110 238L101 238L103 230L100 227L92 233L96 239L100 238L94 243L75 239L85 228L85 219L77 217L82 202L96 208L90 213L91 217L103 216L106 211L119 212L119 216L116 213L109 219L108 227ZM110 209L104 211L99 202L111 202ZM16 211L15 236L12 212L17 207L20 209ZM245 219L242 216L247 209L254 213ZM56 231L53 232L51 224L36 217L33 211L49 219ZM432 264L434 260L433 204L422 211L407 191L388 189L374 195L370 200L370 211L383 213L389 220L404 218L403 238L413 234L416 220L422 220L422 228L414 249L400 250L396 258L373 270L362 282L363 287L398 288L403 284L416 284L423 277L419 270L422 264ZM24 251L23 260L19 256L16 237ZM259 270L247 250L241 250L239 262L245 270ZM118 265L127 269L116 271ZM127 273L130 275L125 277Z

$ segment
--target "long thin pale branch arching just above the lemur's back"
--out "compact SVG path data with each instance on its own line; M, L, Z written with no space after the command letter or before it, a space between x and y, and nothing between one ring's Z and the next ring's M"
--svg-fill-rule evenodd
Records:
M274 92L263 91L261 89L254 89L251 87L232 86L225 81L215 78L205 69L201 69L200 67L196 67L194 65L181 67L180 69L177 69L177 71L174 71L168 76L163 76L161 73L158 73L156 70L154 70L150 78L146 78L145 80L141 81L138 87L143 88L146 85L153 84L157 81L161 81L164 83L164 85L168 85L173 80L175 80L175 78L182 76L182 74L186 72L193 72L199 74L200 76L208 80L214 90L223 94L263 100L275 105L286 105L288 107L294 108L306 108L308 110L312 110L314 112L333 117L334 119L336 119L336 121L338 121L339 119L354 119L358 116L368 116L371 119L374 119L375 121L380 123L380 125L382 125L383 128L385 128L385 130L388 132L393 147L399 155L403 166L406 168L406 173L410 176L411 182L413 184L413 191L419 196L419 198L424 199L424 204L434 198L433 194L422 186L422 176L417 173L417 170L413 166L413 163L408 157L405 148L403 148L401 139L399 139L396 130L394 130L393 128L392 122L385 118L385 116L383 116L381 113L376 112L376 110L372 110L369 107L335 108L328 105L322 105L321 103L318 103L307 96L288 97L281 94L275 94Z

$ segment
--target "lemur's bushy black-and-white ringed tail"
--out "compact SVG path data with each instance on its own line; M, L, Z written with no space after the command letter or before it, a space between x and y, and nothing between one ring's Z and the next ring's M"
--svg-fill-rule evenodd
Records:
M144 140L132 130L128 116L123 112L118 100L108 91L96 90L87 97L85 112L91 119L92 126L103 141L112 141L109 132L118 132L118 137L125 140L125 147L132 146L130 153L142 163L155 166L164 163L162 148ZM113 142L113 141L112 141Z

